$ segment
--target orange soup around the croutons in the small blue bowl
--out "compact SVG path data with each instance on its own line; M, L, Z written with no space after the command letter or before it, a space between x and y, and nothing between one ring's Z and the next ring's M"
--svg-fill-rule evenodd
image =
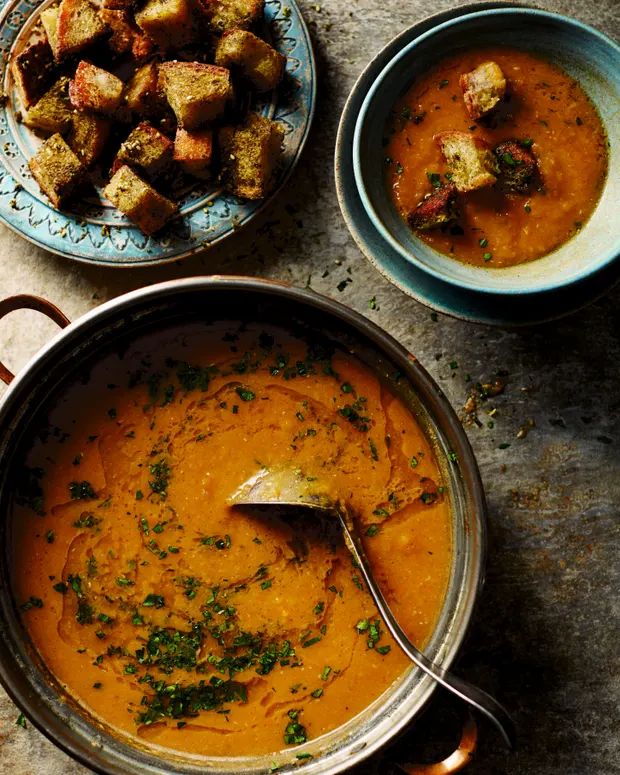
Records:
M476 122L465 109L459 75L489 60L501 67L508 97ZM581 86L543 57L509 48L459 51L416 79L394 106L385 147L387 185L403 217L433 181L443 180L447 167L433 136L449 130L470 132L491 147L508 138L525 141L541 185L527 195L492 186L460 196L456 223L416 232L439 252L488 268L531 261L563 245L596 207L607 175L603 125Z

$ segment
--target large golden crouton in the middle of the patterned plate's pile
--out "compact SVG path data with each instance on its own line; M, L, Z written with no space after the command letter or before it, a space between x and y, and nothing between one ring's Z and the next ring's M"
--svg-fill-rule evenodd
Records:
M200 62L164 62L160 84L179 125L197 129L222 115L233 97L230 72Z

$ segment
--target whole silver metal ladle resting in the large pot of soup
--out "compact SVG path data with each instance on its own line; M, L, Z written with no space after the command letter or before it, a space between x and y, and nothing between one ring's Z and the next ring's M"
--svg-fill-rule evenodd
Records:
M328 495L317 494L315 488L316 484L312 481L309 482L299 470L292 468L262 469L244 482L230 496L228 503L239 508L277 508L280 510L288 508L294 509L296 513L307 512L308 516L338 519L347 548L359 565L377 610L400 648L414 664L433 680L490 719L500 731L508 747L514 748L515 726L505 708L482 689L452 675L439 665L435 665L409 640L396 621L383 592L373 577L359 532L346 506L336 502Z

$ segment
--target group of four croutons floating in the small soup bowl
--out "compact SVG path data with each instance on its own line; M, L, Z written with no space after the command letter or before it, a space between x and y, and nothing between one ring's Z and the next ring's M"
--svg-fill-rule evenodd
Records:
M459 79L465 109L471 119L484 119L506 96L506 78L496 62L483 62ZM507 139L491 148L487 142L458 130L434 137L448 165L446 183L437 181L434 191L420 202L408 221L412 228L435 229L458 218L457 197L499 184L509 194L526 194L538 176L538 160L531 140Z

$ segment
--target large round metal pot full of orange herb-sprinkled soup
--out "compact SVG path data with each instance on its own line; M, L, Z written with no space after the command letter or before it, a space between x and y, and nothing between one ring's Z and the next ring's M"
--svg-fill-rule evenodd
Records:
M65 328L0 417L0 678L92 769L341 772L431 695L333 525L229 507L263 469L344 499L409 636L455 659L476 463L417 360L347 308L244 278L135 291Z

